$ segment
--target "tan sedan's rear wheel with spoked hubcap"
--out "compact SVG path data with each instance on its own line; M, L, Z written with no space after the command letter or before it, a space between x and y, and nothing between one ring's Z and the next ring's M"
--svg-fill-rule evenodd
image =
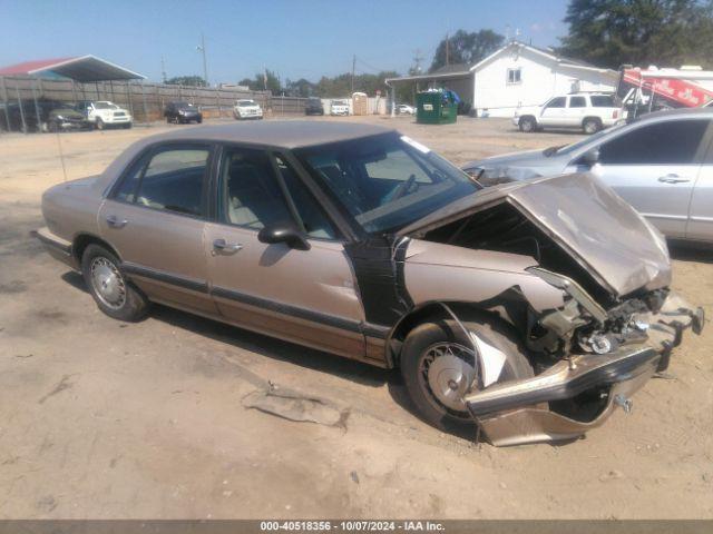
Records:
M125 278L119 264L106 248L89 245L81 255L81 274L101 312L119 320L140 320L149 301Z

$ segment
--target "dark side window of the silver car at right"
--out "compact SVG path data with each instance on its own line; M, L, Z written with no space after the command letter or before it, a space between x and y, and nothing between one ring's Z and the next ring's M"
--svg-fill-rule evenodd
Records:
M605 165L692 164L707 120L670 120L642 126L599 147Z

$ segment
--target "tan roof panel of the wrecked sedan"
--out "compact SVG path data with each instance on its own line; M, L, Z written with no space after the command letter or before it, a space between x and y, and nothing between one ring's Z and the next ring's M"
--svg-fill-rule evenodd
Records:
M359 139L390 131L394 130L358 122L267 120L176 129L146 138L146 145L172 140L208 140L293 149Z

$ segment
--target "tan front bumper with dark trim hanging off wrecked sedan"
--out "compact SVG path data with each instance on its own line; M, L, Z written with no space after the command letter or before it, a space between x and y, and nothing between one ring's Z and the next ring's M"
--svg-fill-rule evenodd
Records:
M569 439L602 425L617 405L631 409L629 396L656 372L668 366L683 330L703 328L702 308L692 309L670 295L657 314L641 316L649 325L644 343L624 345L608 354L577 355L522 380L496 384L466 396L465 402L494 445L519 445ZM553 412L548 403L600 390L606 403L588 421Z

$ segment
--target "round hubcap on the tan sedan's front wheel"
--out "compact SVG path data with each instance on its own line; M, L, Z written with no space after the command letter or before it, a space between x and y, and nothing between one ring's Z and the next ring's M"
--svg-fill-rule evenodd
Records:
M421 357L421 386L448 411L467 413L463 396L476 379L472 349L457 343L431 345Z

